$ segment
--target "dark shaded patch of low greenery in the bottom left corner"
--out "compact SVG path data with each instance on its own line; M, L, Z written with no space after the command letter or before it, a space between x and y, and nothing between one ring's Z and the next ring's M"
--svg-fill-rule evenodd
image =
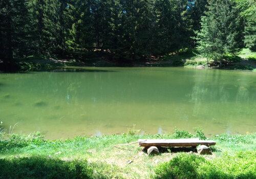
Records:
M33 156L0 159L0 178L93 178L87 161L66 162Z

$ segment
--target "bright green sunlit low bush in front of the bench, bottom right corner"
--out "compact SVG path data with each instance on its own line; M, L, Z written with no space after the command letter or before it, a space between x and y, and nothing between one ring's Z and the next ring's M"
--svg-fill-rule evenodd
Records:
M180 154L155 169L155 178L256 178L256 152L224 153L206 160L194 154Z

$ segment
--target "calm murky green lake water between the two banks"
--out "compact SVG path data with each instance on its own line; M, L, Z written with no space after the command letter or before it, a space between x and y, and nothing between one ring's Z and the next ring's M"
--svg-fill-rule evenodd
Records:
M6 132L48 139L127 132L255 132L256 73L187 68L83 68L0 74Z

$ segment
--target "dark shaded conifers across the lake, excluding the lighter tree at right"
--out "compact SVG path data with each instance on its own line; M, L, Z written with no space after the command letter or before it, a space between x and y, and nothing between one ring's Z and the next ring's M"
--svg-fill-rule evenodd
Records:
M228 6L237 6L226 1ZM82 58L100 53L111 59L137 60L195 48L196 31L202 29L200 21L207 7L207 0L1 0L0 59ZM229 11L226 15L236 16ZM248 26L253 23L247 21ZM250 27L247 31L247 36L253 35ZM253 43L250 38L247 41Z

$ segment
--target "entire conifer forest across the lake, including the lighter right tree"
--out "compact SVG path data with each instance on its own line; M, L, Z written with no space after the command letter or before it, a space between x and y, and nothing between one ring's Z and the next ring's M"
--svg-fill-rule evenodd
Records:
M140 61L181 49L220 60L256 50L254 0L2 0L0 60Z

